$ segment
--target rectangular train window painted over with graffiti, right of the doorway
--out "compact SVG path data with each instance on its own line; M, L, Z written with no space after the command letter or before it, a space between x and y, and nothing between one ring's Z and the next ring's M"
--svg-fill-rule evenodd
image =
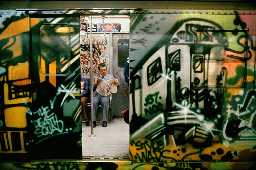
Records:
M191 70L193 86L245 88L248 30L207 27L195 31ZM231 72L235 74L229 74Z

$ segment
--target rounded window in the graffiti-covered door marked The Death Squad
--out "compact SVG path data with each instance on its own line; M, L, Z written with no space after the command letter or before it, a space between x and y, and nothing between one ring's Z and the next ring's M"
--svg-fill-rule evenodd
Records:
M70 32L71 28L66 24L40 26L39 51L42 74L65 75L70 72Z

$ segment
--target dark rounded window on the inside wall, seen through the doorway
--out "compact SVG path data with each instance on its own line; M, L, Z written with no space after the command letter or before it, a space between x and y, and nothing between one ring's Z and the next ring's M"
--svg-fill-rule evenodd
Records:
M129 57L129 39L119 39L117 42L118 67L124 67L125 60Z

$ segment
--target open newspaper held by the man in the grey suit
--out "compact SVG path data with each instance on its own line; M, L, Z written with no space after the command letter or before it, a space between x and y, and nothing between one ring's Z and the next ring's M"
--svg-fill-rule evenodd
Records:
M95 77L95 81L100 81L100 84L97 86L96 91L100 93L102 96L108 96L111 93L116 93L117 92L117 86L114 85L115 82L117 82L117 79L109 79L107 81Z

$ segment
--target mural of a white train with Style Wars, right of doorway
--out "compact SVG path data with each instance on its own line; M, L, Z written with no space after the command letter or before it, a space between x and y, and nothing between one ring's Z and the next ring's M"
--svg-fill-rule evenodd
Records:
M255 160L256 25L248 19L131 15L132 160Z

